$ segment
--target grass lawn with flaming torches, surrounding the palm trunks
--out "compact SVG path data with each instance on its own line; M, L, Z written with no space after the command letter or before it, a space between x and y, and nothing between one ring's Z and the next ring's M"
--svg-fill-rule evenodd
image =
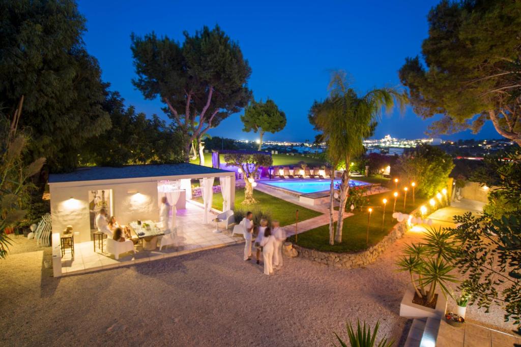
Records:
M386 217L382 228L383 218L383 203L382 199L386 198L387 208ZM333 246L329 245L329 225L323 225L318 228L309 230L305 233L299 234L297 245L315 249L318 251L329 251L329 252L356 252L366 249L366 233L367 233L367 219L369 207L373 209L371 213L371 219L369 222L369 246L378 243L384 236L386 236L392 227L398 223L392 218L394 197L392 191L385 192L382 194L374 194L369 196L369 205L364 207L363 211L355 210L355 214L351 217L344 219L343 231L342 231L342 242L335 243ZM405 209L403 208L403 195L400 194L398 200L396 200L396 211L397 212L411 212L421 204L425 203L425 199L416 199L416 203L413 204L411 194L407 194ZM346 207L349 209L349 207ZM294 237L290 238L291 242L294 242Z

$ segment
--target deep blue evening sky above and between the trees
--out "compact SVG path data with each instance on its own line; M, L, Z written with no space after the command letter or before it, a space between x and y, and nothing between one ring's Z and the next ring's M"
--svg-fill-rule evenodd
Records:
M265 139L313 140L307 112L313 100L327 95L331 70L351 75L359 93L369 88L398 86L398 70L405 57L420 53L427 36L429 9L438 1L314 1L314 2L180 2L111 0L79 1L87 20L84 36L89 53L100 62L103 79L121 93L128 105L148 115L164 116L158 100L145 100L135 90L130 33L155 31L182 41L182 32L203 25L220 27L238 41L249 60L249 86L256 99L271 98L286 112L288 125ZM196 5L194 5L196 4ZM424 137L430 121L410 108L384 116L375 137ZM210 131L213 136L255 139L243 133L239 114ZM458 133L442 138L499 138L488 122L473 135Z

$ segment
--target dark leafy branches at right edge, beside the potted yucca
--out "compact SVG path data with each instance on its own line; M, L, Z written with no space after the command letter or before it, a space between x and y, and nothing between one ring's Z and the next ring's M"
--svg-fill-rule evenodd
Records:
M472 295L470 304L489 310L498 304L521 330L521 151L502 161L501 182L493 198L509 202L513 209L503 215L470 212L455 216L458 223L448 231L458 242L454 259L458 271L468 276L461 288Z

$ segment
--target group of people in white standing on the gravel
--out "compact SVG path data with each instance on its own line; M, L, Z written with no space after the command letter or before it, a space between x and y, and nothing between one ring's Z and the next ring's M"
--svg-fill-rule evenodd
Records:
M244 227L244 261L252 258L252 240L253 230L253 213L247 212L241 224ZM255 237L254 246L256 248L257 264L260 263L261 253L264 262L264 274L270 275L274 269L282 267L282 246L286 240L286 230L280 227L278 221L272 221L268 226L268 221L262 219L257 227L257 236Z

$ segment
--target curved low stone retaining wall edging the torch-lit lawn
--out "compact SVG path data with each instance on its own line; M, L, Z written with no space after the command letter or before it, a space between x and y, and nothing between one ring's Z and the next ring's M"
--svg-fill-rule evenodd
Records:
M303 248L297 245L293 247L299 252L299 256L321 264L343 268L356 268L374 263L378 257L391 246L396 240L403 237L407 232L407 222L403 221L394 226L391 232L376 245L367 250L356 253L334 253L321 252Z

